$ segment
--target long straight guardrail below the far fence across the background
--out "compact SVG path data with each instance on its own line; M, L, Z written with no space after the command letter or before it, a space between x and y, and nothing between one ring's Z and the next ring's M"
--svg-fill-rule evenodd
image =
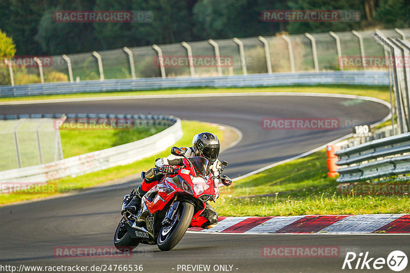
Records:
M0 86L0 97L159 90L188 87L260 87L297 84L388 85L387 71L326 71L219 77L141 78Z

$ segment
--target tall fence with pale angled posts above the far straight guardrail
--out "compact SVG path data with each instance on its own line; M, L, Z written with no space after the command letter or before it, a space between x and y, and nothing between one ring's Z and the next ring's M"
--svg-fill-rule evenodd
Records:
M0 66L0 84L151 77L195 77L329 70L387 70L366 64L384 57L376 30L275 35L153 45L50 57L49 65ZM410 29L382 30L386 37L410 36ZM33 56L34 57L34 56ZM13 82L10 74L14 74Z

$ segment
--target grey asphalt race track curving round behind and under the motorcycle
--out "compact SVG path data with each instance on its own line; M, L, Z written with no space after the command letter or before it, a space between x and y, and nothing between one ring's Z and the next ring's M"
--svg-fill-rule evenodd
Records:
M343 137L352 132L352 122L375 123L388 115L388 108L377 102L357 99L258 94L0 106L0 114L74 112L174 115L181 119L233 126L242 132L243 138L236 146L221 153L219 158L229 162L225 173L235 178ZM341 121L341 128L263 130L263 118L334 118ZM343 252L369 252L369 257L386 258L394 250L405 253L410 251L410 237L406 235L187 233L170 252L160 252L156 245L139 245L131 257L121 259L107 256L54 257L55 247L112 246L114 231L120 219L120 202L137 183L139 181L130 181L121 185L90 189L76 195L0 208L0 265L90 267L130 264L142 265L144 272L188 272L193 271L192 268L181 265L208 264L211 266L210 272L334 272L346 270L341 269L345 257ZM273 245L337 246L340 256L263 257L262 247ZM356 261L352 262L352 265L356 265ZM377 271L383 270L389 269L385 265ZM107 272L110 270L107 269Z

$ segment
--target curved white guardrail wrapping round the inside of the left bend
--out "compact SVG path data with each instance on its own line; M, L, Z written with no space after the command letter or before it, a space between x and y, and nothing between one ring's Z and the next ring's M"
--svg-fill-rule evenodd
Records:
M8 116L8 117L7 117ZM34 115L7 115L3 118L20 118ZM60 118L61 114L40 115L43 117ZM37 116L38 117L38 116ZM172 146L182 137L181 121L172 116L153 115L109 115L109 114L68 114L69 119L95 119L95 118L116 118L118 120L127 117L141 119L145 117L148 122L160 122L172 124L169 128L151 135L148 138L132 143L119 145L116 147L90 152L59 160L53 163L30 166L0 172L0 182L24 182L43 183L52 179L57 179L69 175L81 175L93 171L103 170L118 165L130 164L136 160L152 156ZM2 117L0 117L2 118Z

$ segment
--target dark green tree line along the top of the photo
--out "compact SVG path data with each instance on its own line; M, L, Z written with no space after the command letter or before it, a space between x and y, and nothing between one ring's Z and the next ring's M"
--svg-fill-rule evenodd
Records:
M265 22L264 10L358 10L356 22ZM56 11L147 10L151 22L56 22ZM408 0L1 0L16 55L59 55L181 41L410 25Z

